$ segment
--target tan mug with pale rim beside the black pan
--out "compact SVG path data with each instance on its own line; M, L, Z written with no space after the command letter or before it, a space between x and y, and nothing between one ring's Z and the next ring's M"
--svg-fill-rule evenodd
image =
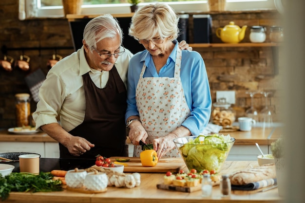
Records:
M38 154L19 155L20 172L39 174L39 158Z

